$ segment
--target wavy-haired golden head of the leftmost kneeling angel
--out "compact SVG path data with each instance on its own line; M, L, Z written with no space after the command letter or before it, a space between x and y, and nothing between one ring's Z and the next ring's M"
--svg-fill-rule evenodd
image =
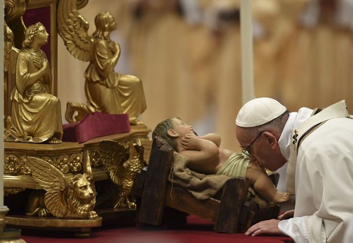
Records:
M25 31L25 40L22 42L22 46L28 47L33 42L43 46L48 43L48 36L47 30L41 22L32 24Z

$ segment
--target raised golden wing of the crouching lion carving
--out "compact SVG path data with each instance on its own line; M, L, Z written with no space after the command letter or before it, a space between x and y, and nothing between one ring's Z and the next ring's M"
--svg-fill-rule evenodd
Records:
M67 189L64 174L53 165L36 157L28 157L27 165L32 170L33 179L47 191L44 203L48 210L58 218L64 217L67 212L63 196Z

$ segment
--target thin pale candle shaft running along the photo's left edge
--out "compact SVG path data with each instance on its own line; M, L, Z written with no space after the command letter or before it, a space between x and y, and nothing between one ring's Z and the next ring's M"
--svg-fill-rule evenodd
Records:
M0 0L0 207L4 205L4 0Z

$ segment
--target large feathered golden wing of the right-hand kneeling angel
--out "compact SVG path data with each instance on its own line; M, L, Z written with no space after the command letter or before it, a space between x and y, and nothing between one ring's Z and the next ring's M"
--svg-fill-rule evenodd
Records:
M80 16L76 6L77 0L59 0L58 31L67 50L81 61L92 58L93 38L88 35L89 24Z

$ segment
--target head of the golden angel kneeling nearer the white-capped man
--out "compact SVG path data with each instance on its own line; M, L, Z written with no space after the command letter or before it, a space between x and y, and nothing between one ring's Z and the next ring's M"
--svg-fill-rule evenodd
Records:
M109 12L101 12L95 17L96 31L93 36L108 39L112 31L116 30L116 21Z

